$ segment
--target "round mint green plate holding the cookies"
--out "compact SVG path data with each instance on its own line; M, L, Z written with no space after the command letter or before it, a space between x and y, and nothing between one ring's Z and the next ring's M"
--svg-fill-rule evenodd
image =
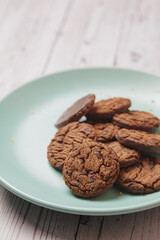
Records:
M93 199L75 197L46 157L54 123L75 100L95 93L97 100L129 97L132 109L160 117L160 78L120 69L80 69L40 78L0 103L0 182L16 195L57 211L115 215L160 205L160 192L134 196L110 189Z

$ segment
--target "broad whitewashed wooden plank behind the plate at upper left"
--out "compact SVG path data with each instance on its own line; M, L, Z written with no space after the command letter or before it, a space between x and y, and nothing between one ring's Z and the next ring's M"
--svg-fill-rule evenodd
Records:
M73 0L13 0L0 22L0 98L42 75Z

